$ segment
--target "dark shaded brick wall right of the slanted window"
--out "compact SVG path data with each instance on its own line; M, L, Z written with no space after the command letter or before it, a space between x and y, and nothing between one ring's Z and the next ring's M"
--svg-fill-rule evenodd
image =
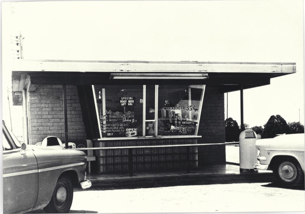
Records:
M218 86L206 86L200 124L198 143L224 143L225 123L224 123L224 93ZM225 146L199 146L198 165L203 166L210 163L224 163Z

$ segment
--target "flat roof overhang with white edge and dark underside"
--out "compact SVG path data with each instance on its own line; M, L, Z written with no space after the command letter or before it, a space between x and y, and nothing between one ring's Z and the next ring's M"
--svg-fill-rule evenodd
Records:
M168 78L156 77L163 74ZM270 79L296 73L296 63L281 62L150 62L67 61L18 59L12 67L13 105L22 105L20 92L29 84L206 84L221 85L223 92L270 84ZM113 79L113 74L130 75ZM152 75L151 78L137 78ZM188 78L202 74L206 78ZM155 75L155 76L154 76ZM158 75L159 76L159 75ZM170 78L172 76L180 78ZM135 78L133 78L135 77ZM134 81L133 81L134 80ZM135 82L136 81L136 82Z

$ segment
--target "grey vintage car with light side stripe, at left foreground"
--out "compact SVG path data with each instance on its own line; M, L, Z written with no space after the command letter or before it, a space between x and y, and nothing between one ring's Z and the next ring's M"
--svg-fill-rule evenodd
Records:
M86 180L84 152L62 147L20 144L2 122L3 212L44 209L68 213L73 188L91 186Z

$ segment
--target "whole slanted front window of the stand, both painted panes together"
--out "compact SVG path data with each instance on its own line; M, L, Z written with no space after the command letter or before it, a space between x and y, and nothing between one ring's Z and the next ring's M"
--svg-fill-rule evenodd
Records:
M197 135L204 85L95 85L100 137Z

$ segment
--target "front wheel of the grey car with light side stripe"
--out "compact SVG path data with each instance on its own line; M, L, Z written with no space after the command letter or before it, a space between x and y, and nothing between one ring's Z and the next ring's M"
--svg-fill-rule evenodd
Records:
M68 213L73 200L73 185L71 180L62 176L59 177L51 201L43 209L45 213Z

